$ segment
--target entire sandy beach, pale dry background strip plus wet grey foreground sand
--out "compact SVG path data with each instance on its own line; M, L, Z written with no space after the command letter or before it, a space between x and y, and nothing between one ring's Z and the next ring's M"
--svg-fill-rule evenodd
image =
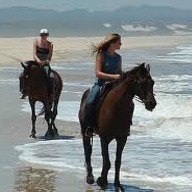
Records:
M32 44L35 37L0 38L0 73L4 68L20 68L20 61L32 59ZM70 61L73 59L90 60L90 45L98 42L102 37L88 38L52 38L54 53L52 63ZM192 36L147 36L123 37L123 49L169 48L192 42ZM22 70L22 69L21 69ZM18 81L19 73L15 72ZM63 81L69 78L67 74ZM73 77L75 78L75 77ZM77 78L77 77L76 77ZM18 82L19 83L19 82ZM64 83L65 86L65 83ZM36 142L29 139L31 131L30 114L21 111L23 100L19 99L19 85L5 85L0 83L1 90L1 134L0 134L0 192L84 192L94 191L85 184L85 174L76 176L73 172L59 172L37 165L30 165L19 160L16 145ZM64 94L64 93L62 93ZM65 95L62 95L65 97ZM59 133L66 138L81 138L78 123L57 120ZM42 118L37 120L38 136L44 135L46 123ZM37 139L38 140L38 139ZM83 154L82 154L83 155ZM40 182L41 180L41 182Z

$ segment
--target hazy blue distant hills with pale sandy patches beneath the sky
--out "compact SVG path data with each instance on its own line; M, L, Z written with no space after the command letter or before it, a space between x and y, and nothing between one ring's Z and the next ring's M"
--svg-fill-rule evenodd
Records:
M166 6L129 6L114 11L75 9L57 12L29 7L0 9L0 37L36 36L48 28L54 37L187 35L192 33L192 11Z

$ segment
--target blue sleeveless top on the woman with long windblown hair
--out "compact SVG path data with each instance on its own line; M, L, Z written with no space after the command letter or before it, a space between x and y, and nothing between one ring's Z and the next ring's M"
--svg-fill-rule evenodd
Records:
M107 52L102 52L104 61L102 63L101 71L107 74L120 74L121 73L121 56L115 53L113 56L108 55ZM102 85L106 80L98 79L99 85Z

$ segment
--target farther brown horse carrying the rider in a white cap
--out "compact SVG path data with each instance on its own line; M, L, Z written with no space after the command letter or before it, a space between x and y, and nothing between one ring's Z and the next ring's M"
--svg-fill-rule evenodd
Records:
M49 94L50 86L45 71L43 71L43 69L41 69L33 61L29 61L28 64L28 67L26 67L26 65L21 62L21 65L24 68L24 81L28 90L28 99L32 112L32 130L30 137L36 138L35 121L37 116L35 112L35 103L36 101L40 101L43 103L44 108L42 113L45 113L45 120L48 125L48 130L45 136L52 138L58 135L54 121L57 116L59 97L63 87L62 79L56 71L52 70L55 90L55 98L53 99Z

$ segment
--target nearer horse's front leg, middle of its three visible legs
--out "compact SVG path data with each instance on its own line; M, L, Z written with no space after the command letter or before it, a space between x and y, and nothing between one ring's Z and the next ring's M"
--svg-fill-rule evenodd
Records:
M103 167L102 167L102 172L101 172L101 177L97 179L97 184L102 188L106 189L108 185L107 181L107 175L108 171L111 167L111 163L109 160L109 143L111 142L112 138L107 138L107 137L101 137L100 142L101 142L101 151L102 151L102 157L103 157Z

